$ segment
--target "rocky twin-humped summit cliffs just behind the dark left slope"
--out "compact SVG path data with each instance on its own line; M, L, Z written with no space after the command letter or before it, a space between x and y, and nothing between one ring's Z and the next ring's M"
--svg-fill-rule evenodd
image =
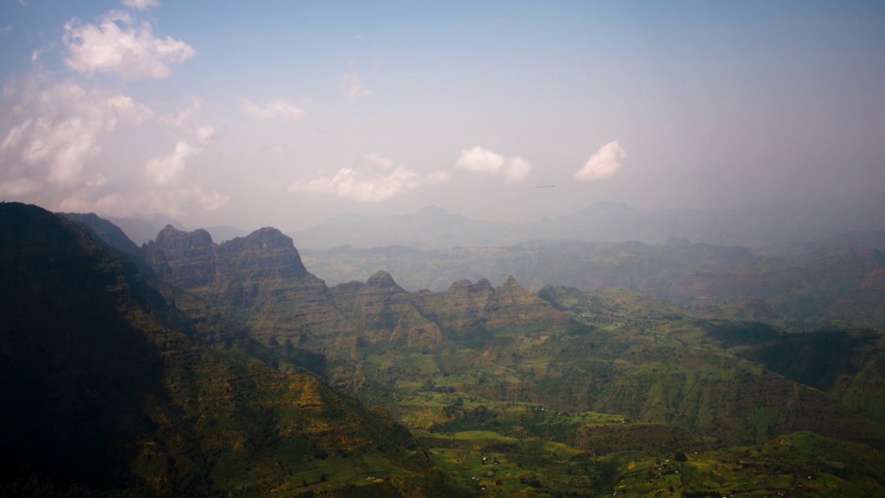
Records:
M307 276L292 239L272 228L217 245L206 230L184 232L166 225L145 253L160 278L187 289Z

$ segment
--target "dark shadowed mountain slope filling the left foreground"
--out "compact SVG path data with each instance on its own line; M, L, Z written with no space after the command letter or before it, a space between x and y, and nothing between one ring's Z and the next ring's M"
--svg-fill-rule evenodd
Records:
M4 495L450 493L383 411L223 347L235 326L95 235L0 204Z

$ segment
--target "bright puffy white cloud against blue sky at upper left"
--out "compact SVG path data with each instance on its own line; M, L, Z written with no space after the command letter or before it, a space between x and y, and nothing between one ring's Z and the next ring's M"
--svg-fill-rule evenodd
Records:
M196 54L193 47L181 40L154 37L150 22L133 25L129 14L121 11L108 12L97 25L71 19L62 36L69 53L65 63L85 74L98 71L124 78L165 78L172 74L171 64Z

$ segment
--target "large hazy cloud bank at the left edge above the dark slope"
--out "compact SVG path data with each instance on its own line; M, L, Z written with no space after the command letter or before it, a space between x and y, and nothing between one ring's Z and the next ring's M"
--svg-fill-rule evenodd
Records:
M211 140L212 126L183 127L171 152L146 162L127 153L111 159L104 152L114 153L111 142L140 140L144 127L177 120L158 119L132 97L48 82L44 74L7 83L4 97L17 103L4 116L10 125L0 136L0 198L117 216L211 211L230 200L183 178L189 161Z

